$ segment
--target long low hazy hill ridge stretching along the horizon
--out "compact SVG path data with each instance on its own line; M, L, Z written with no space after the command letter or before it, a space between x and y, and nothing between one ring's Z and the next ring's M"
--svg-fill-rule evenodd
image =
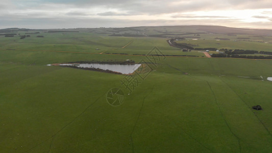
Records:
M0 33L10 33L18 31L35 31L34 29L9 28L1 29ZM38 31L38 29L36 30ZM228 34L228 35L258 35L272 36L272 30L268 29L244 29L230 28L215 25L176 25L176 26L160 26L160 27L125 27L125 28L75 28L75 29L44 29L39 31L45 32L90 32L97 34L108 34L111 36L125 37L167 37L173 35L189 35L189 34Z

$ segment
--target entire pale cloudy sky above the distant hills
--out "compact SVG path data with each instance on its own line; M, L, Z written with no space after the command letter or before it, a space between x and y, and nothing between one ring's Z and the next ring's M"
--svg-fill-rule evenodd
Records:
M224 25L272 29L271 0L0 0L3 28Z

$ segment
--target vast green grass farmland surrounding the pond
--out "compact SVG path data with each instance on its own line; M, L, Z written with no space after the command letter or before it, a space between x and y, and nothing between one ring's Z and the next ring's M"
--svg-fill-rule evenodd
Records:
M202 40L182 41L272 52L270 43L216 41L218 35L231 36L208 34L205 27L39 31L24 39L0 36L0 152L272 151L272 82L267 80L272 77L272 60L206 58L166 41L182 35L109 36L116 31L134 34L135 29L146 35L205 33L200 34ZM260 34L242 37L252 35ZM165 56L150 62L151 56L141 56L154 47L164 55L195 57ZM121 83L127 75L47 66L126 60L148 61L144 64L152 67L132 91ZM107 103L112 88L124 93L120 106ZM256 105L263 110L253 110Z

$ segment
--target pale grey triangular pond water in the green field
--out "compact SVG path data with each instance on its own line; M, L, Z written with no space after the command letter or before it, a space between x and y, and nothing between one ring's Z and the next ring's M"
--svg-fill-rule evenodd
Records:
M99 68L103 70L111 70L115 72L120 72L122 74L130 74L137 70L141 64L60 64L67 66L77 66L84 68Z

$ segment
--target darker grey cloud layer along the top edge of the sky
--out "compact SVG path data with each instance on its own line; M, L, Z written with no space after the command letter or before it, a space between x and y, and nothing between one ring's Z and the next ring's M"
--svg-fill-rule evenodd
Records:
M57 4L69 4L75 7L96 7L103 6L105 8L114 8L121 11L131 11L138 14L161 14L175 13L199 10L221 10L226 8L242 8L242 9L260 9L272 8L270 0L151 0L151 1L132 1L132 0L91 0L91 1L71 1L56 0L49 1ZM48 2L48 1L46 1Z

